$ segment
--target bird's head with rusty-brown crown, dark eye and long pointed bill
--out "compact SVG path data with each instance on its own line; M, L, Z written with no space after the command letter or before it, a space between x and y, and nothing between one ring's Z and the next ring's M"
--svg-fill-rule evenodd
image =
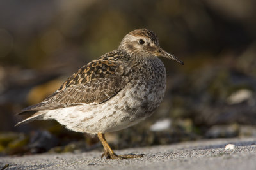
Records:
M156 34L148 29L136 29L129 32L122 39L118 49L136 57L166 57L184 64L180 59L163 50L159 46Z

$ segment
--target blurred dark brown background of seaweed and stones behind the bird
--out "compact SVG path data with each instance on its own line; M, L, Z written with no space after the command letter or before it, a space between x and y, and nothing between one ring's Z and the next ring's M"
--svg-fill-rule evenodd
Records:
M1 0L0 155L101 150L54 120L14 127L87 62L148 28L185 62L166 66L164 101L143 123L106 134L115 149L256 136L256 1Z

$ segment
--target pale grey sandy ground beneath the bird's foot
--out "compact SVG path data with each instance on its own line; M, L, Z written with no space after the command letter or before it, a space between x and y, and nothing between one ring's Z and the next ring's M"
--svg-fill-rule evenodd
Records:
M236 145L225 150L225 145ZM141 159L106 160L101 152L0 157L0 169L256 169L256 138L212 139L173 145L129 148L116 153L144 153Z

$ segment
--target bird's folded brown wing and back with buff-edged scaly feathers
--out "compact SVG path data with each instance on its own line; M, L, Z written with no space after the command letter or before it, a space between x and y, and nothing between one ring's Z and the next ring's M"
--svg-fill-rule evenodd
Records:
M114 54L116 56L116 53ZM61 85L60 89L41 103L29 106L23 111L53 110L78 104L99 104L115 96L129 82L129 71L124 69L129 66L124 61L109 61L109 57L111 54L108 53L81 67Z

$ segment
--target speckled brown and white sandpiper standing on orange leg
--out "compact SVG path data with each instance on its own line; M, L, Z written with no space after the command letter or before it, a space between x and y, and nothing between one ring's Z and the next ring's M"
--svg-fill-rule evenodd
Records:
M166 90L166 69L158 57L182 60L159 46L157 35L135 29L116 50L88 62L42 102L18 115L31 116L17 123L54 119L67 129L98 136L106 159L140 158L143 154L117 155L105 139L152 115Z

